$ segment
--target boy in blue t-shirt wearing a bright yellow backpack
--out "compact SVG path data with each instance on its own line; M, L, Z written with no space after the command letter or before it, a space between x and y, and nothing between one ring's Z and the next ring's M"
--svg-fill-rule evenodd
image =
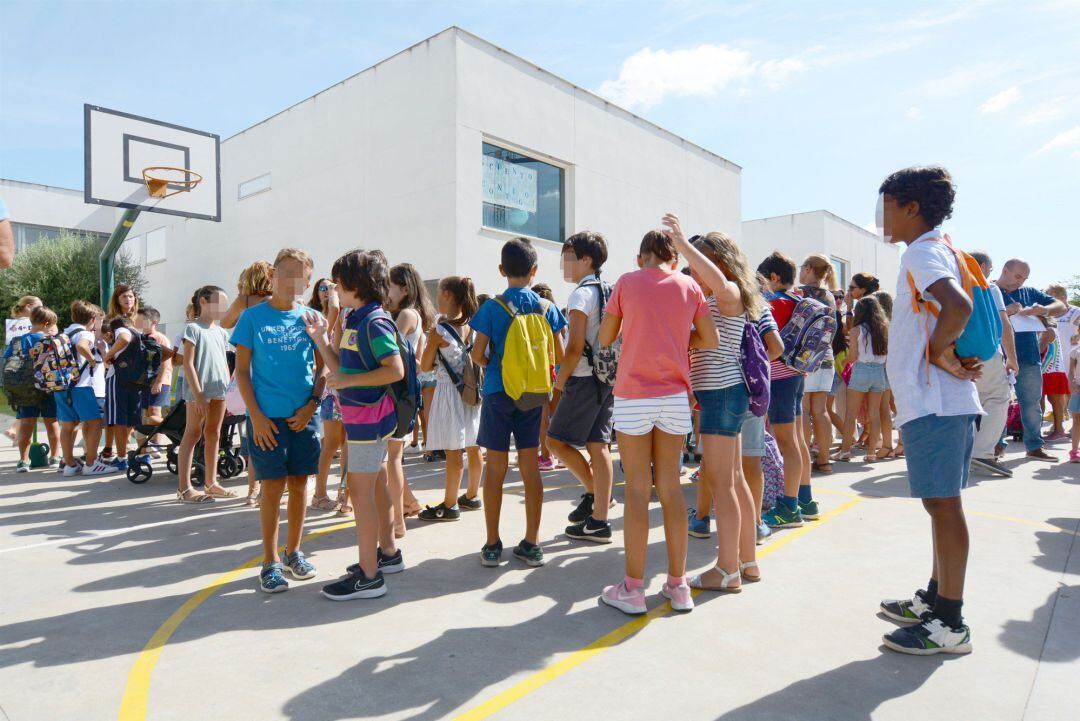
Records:
M472 321L476 335L472 358L486 367L476 438L476 444L487 449L484 470L487 542L481 549L481 563L497 567L502 558L499 516L513 435L525 486L525 539L513 553L528 566L538 567L543 566L543 550L537 545L543 504L537 457L541 406L551 402L552 368L563 357L558 332L566 327L566 317L554 303L529 289L537 273L537 251L527 239L507 241L501 260L499 273L509 287L484 303Z

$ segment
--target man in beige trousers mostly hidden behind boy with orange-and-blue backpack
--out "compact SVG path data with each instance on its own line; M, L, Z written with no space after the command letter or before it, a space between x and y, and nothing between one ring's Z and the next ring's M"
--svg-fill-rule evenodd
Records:
M978 266L983 269L983 275L989 277L994 270L990 257L978 250L972 253L971 257L978 261ZM1010 371L1016 373L1020 367L1016 365L1015 339L1012 325L1005 314L1005 303L1001 296L1001 289L991 283L990 295L994 296L994 304L1001 315L1001 346L998 348L998 352L994 354L993 358L983 364L983 375L975 381L975 387L978 390L978 403L986 411L986 416L980 419L978 431L975 432L971 464L1009 478L1012 476L1012 471L998 462L994 448L1001 438L1001 431L1005 427L1009 400L1012 397L1008 373Z

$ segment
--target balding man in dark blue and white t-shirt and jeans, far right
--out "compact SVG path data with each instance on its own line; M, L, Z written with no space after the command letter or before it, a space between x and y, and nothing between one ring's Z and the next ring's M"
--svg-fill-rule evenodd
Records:
M1036 288L1025 286L1031 267L1013 258L1001 269L998 287L1005 301L1005 313L1012 322L1016 343L1016 399L1020 402L1021 420L1024 422L1024 447L1027 457L1039 461L1056 462L1057 458L1042 450L1042 358L1039 354L1039 334L1044 330L1039 318L1061 315L1065 303Z

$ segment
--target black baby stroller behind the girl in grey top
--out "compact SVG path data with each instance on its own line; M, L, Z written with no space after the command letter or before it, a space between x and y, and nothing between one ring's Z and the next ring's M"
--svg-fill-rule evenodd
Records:
M127 453L127 480L133 484L145 484L153 476L153 466L146 459L150 450L165 451L165 467L172 474L179 473L179 458L177 449L180 440L184 439L184 428L187 426L187 405L185 402L176 404L168 414L162 419L161 423L148 423L138 425L135 430L145 438L138 447ZM244 458L240 454L240 449L234 447L237 427L244 420L243 416L226 416L221 422L221 436L219 440L219 451L217 461L217 474L221 478L232 478L239 476L247 467ZM167 444L156 444L156 436L165 436ZM200 439L195 444L191 463L191 485L201 488L206 477L206 470L203 461L203 441Z

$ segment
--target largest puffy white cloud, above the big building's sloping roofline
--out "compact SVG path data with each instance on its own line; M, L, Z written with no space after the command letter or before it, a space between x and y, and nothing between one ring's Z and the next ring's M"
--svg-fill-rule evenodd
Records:
M619 78L600 83L599 94L629 108L648 108L669 95L713 97L755 77L775 85L801 68L789 59L756 62L745 50L704 44L687 50L644 47L627 57Z

